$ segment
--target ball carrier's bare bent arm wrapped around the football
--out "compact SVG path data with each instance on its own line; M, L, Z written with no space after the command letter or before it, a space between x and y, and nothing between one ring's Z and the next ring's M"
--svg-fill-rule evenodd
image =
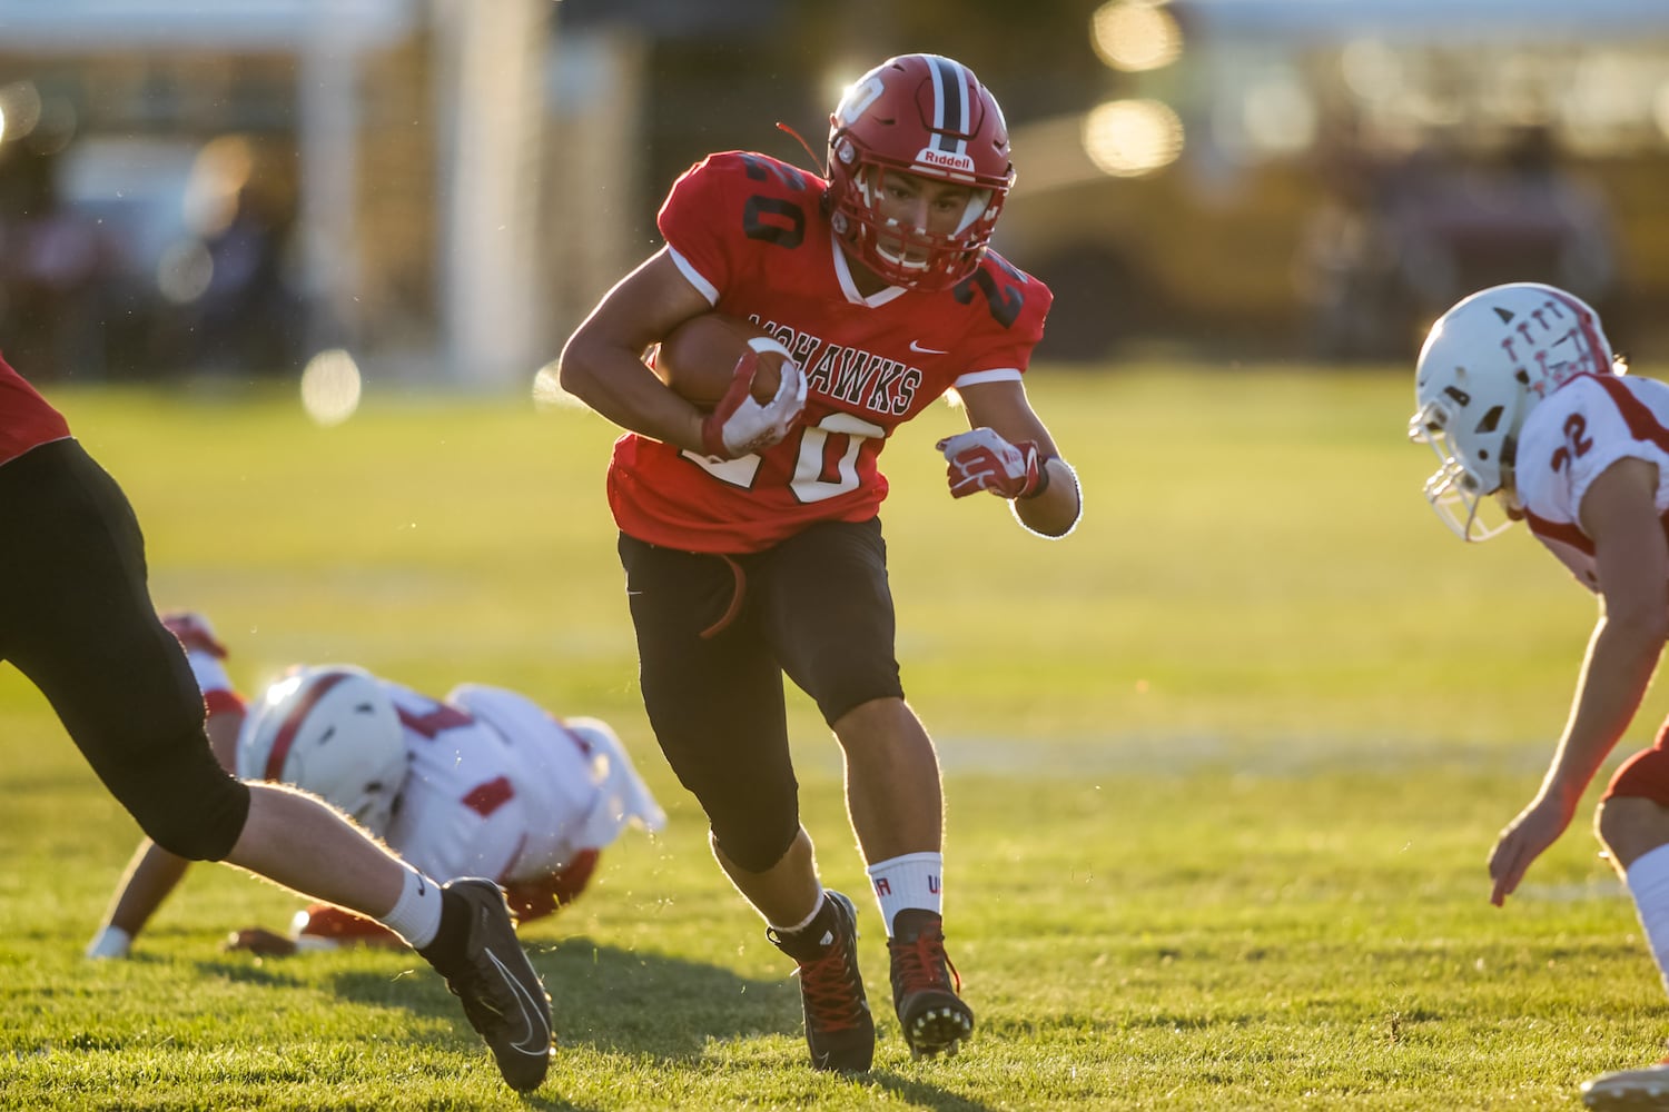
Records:
M713 305L661 248L598 303L562 347L562 388L623 428L701 452L703 413L643 362L673 328Z

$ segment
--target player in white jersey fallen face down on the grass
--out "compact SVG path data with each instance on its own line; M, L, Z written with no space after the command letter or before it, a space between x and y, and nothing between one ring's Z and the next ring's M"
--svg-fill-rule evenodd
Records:
M167 614L162 624L185 649L224 767L319 795L431 877L491 877L517 925L577 899L628 825L666 824L619 737L598 719L557 719L481 684L431 699L352 665L289 669L250 707L205 617ZM187 864L142 844L87 955L127 957ZM289 935L249 927L229 947L287 955L349 942L404 945L369 919L314 904Z

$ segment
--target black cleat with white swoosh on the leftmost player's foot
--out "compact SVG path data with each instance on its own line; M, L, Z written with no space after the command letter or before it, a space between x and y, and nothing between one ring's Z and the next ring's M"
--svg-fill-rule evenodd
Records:
M551 1069L551 997L544 992L511 919L504 892L491 880L449 880L442 890L469 905L464 960L439 970L464 1004L511 1089L537 1089Z

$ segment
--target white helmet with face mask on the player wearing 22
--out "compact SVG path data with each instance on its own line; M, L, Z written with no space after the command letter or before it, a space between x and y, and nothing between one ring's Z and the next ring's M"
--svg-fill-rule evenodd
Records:
M1420 348L1409 418L1409 438L1437 453L1425 480L1437 517L1462 540L1507 528L1517 512L1512 465L1524 418L1569 378L1611 372L1599 313L1551 285L1495 285L1439 317ZM1479 520L1479 500L1490 493L1509 520Z

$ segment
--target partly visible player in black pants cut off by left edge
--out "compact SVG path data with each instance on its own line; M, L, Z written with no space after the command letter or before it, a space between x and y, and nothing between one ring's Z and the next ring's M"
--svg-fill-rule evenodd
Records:
M0 660L40 689L145 835L377 919L462 997L504 1080L537 1089L551 1000L504 894L477 877L437 885L315 795L220 767L185 652L152 607L127 495L3 360L0 522Z

